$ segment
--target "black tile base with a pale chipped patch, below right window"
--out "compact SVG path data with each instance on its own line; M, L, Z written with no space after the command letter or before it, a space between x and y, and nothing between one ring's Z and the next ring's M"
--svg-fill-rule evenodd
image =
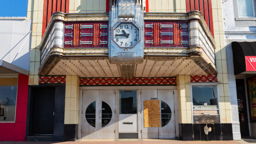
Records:
M179 124L179 133L184 141L233 140L232 124Z

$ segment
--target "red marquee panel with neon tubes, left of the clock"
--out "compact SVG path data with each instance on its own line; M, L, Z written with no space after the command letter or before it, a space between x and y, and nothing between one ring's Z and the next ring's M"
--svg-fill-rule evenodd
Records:
M65 23L64 48L108 47L108 22Z

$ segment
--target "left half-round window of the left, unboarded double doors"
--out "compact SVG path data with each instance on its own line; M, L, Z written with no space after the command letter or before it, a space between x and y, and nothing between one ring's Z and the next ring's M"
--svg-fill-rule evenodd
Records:
M85 118L86 121L95 128L95 115L96 115L96 101L90 103L86 108Z

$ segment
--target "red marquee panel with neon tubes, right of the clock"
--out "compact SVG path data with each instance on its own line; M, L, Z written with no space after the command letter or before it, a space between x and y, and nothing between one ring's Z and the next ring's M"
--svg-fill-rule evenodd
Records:
M145 47L189 47L185 21L145 21Z

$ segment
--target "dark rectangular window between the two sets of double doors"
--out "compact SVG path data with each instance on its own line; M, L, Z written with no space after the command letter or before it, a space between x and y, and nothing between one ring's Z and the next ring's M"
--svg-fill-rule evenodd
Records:
M120 111L120 114L136 114L137 113L137 92L136 91L120 91L119 111Z

